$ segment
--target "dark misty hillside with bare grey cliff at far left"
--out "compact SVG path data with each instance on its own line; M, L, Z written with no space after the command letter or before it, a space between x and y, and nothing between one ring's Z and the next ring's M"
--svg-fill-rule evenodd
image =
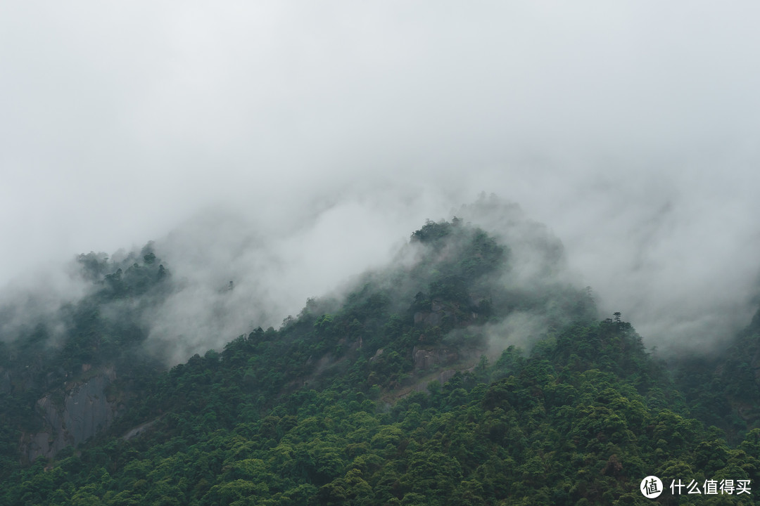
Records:
M141 350L143 313L166 297L169 272L147 245L118 261L78 257L85 295L24 317L35 300L2 309L2 456L54 457L105 429L162 369ZM22 303L23 302L23 303ZM19 450L20 448L20 450ZM15 460L15 459L14 459Z

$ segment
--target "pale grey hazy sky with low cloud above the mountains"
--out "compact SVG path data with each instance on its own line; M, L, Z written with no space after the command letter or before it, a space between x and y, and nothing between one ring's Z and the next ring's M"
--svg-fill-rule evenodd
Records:
M237 226L276 240L307 278L278 289L302 300L484 190L546 223L644 338L727 332L760 268L758 19L756 2L2 2L0 284L208 215L205 246Z

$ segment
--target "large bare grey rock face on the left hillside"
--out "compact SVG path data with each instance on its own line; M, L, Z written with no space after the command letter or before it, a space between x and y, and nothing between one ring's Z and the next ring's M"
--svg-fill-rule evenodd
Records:
M54 457L68 445L78 445L109 426L121 414L116 401L106 398L106 388L116 379L113 369L98 372L74 385L62 405L48 394L37 401L45 429L22 437L21 451L30 462L37 457Z

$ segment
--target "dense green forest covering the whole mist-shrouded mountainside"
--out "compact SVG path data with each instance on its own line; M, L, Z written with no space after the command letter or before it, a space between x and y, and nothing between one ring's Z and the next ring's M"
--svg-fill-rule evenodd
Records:
M760 313L658 357L537 244L526 275L520 244L426 222L346 294L169 370L144 346L169 263L80 256L55 319L0 310L0 503L754 504Z

